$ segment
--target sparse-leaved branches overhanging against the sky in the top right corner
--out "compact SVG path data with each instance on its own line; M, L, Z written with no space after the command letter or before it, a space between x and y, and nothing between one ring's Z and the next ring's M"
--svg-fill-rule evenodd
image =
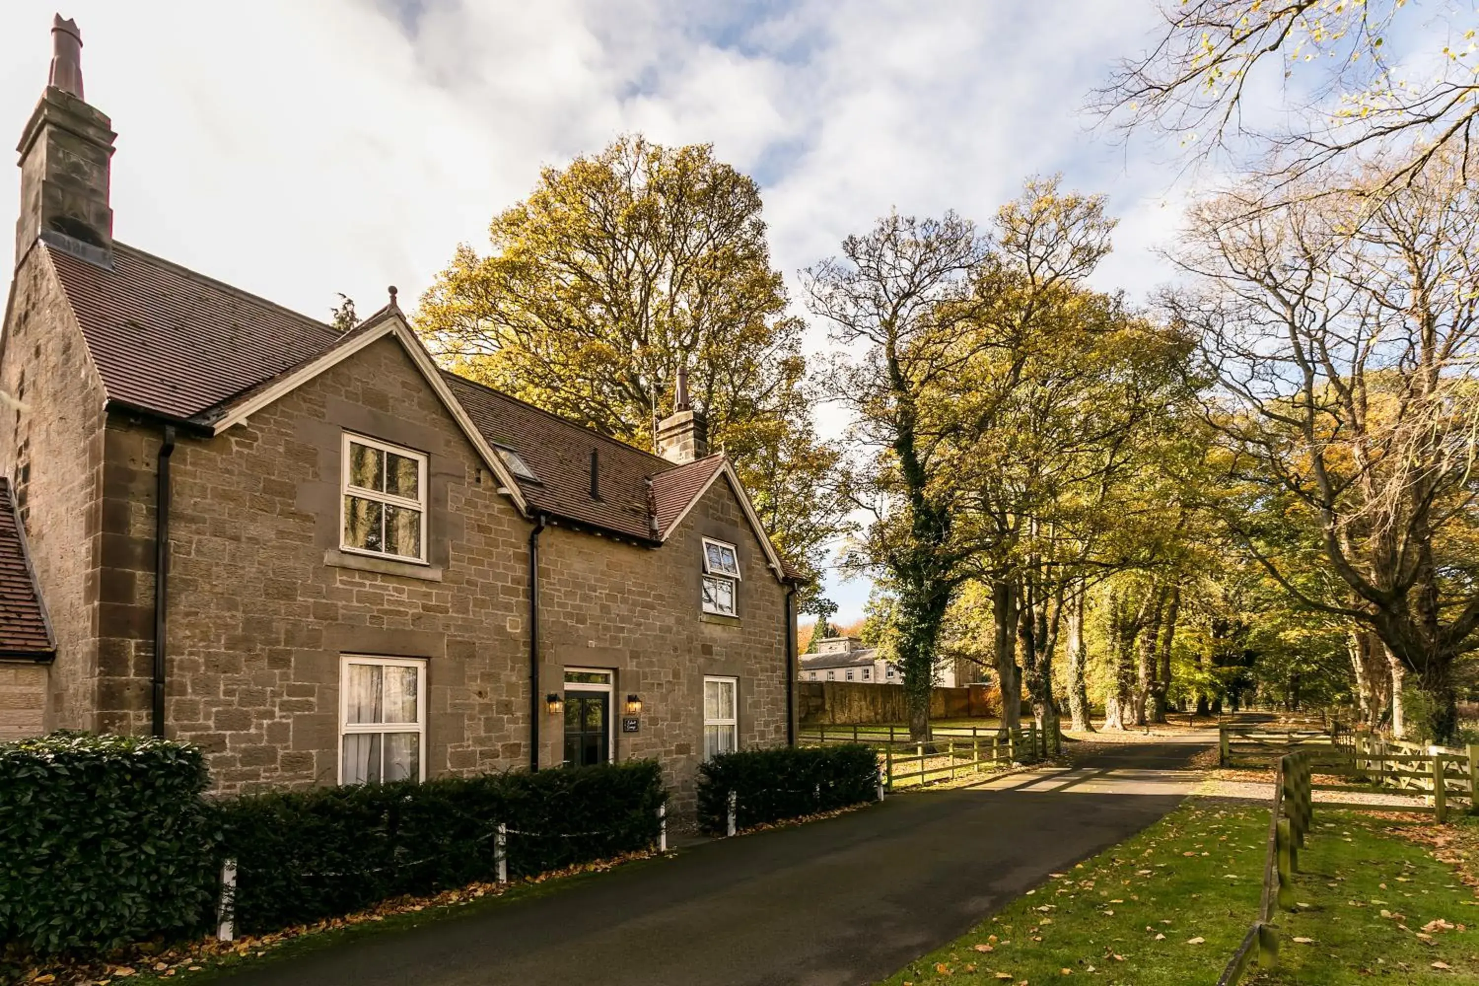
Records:
M1387 166L1383 188L1407 183L1435 155L1467 171L1479 136L1472 4L1162 0L1160 12L1149 49L1094 96L1120 124L1152 126L1194 154L1228 151L1288 180L1375 152ZM1293 112L1257 105L1270 96Z

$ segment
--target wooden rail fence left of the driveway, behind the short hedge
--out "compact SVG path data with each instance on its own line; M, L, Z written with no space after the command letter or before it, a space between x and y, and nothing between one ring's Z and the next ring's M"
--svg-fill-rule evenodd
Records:
M887 791L954 781L982 769L1031 763L1047 755L1037 723L1004 736L989 726L939 727L927 741L910 739L908 727L813 726L797 735L803 747L862 744L879 751L879 775Z

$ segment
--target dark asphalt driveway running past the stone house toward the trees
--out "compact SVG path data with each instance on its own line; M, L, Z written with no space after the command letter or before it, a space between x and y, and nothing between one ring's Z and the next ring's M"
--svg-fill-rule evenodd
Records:
M1170 812L1192 744L904 794L463 918L263 959L231 986L856 986Z

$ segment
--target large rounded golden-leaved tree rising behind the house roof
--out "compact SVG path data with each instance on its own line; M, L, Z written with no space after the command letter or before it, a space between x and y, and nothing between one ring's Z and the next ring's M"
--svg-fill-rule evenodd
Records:
M846 526L836 446L771 266L760 191L708 145L621 137L547 167L463 244L417 328L460 373L651 448L686 367L711 443L734 458L787 559L815 575Z

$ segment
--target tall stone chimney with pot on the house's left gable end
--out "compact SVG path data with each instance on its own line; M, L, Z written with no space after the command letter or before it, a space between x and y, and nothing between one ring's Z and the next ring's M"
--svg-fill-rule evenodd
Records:
M15 262L46 237L65 250L109 265L112 123L83 102L83 37L74 21L52 22L52 74L21 143L21 216Z

